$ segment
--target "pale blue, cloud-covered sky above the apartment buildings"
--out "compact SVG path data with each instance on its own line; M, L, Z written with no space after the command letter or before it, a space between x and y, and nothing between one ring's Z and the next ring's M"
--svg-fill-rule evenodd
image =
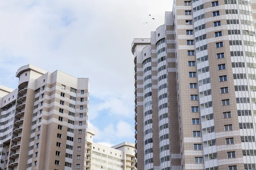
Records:
M17 88L27 64L89 78L94 142L134 143L131 42L149 38L165 11L172 0L2 0L0 85Z

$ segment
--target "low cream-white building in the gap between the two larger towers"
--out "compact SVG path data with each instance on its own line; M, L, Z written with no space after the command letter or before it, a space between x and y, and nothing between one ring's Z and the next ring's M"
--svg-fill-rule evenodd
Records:
M94 135L93 130L87 130L86 170L136 170L133 143L107 147L93 142Z

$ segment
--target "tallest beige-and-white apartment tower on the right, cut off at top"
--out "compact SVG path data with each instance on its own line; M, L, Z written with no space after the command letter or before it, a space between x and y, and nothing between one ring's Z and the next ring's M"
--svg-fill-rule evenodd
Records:
M174 0L134 39L139 170L256 170L256 1Z

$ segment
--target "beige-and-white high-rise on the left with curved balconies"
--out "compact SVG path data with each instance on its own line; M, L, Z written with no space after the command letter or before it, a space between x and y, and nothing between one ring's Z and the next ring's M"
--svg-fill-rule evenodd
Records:
M33 65L16 77L0 86L0 169L85 170L89 79Z

